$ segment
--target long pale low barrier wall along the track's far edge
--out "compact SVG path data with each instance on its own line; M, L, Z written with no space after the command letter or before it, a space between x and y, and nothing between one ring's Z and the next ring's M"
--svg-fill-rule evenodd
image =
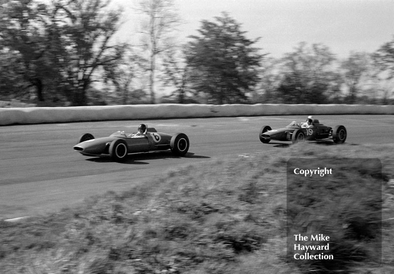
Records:
M261 115L394 114L394 105L361 104L140 104L0 108L0 125L99 120Z

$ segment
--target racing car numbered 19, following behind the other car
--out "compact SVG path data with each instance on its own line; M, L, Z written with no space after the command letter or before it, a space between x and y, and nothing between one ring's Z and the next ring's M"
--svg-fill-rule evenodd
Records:
M285 128L271 129L270 126L263 126L259 132L259 138L263 143L270 140L292 141L293 143L305 140L314 141L322 139L332 139L335 143L344 143L347 132L344 126L335 126L334 128L319 123L314 119L311 126L301 128L296 121L290 123Z

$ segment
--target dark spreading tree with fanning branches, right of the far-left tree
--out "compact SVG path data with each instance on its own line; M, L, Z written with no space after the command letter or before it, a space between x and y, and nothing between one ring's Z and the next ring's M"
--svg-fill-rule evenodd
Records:
M86 91L94 73L118 60L124 44L110 40L120 26L120 10L109 10L110 0L56 0L58 29L62 32L66 55L62 72L65 89L73 104L87 103Z

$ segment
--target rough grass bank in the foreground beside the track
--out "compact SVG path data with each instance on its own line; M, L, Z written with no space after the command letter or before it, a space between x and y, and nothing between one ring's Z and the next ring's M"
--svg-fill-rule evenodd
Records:
M9 274L394 273L394 185L389 183L394 178L394 145L300 144L277 152L183 167L128 192L108 192L50 216L1 222L0 269ZM362 254L365 260L354 261L344 256L349 262L340 262L341 269L286 263L286 163L295 157L329 158L333 163L343 157L381 160L384 221L379 268L369 268L367 254ZM368 172L344 176L342 183L371 178L367 184L380 187ZM347 195L349 213L349 204L357 201ZM332 208L319 210L333 215ZM293 206L291 214L303 211L305 205ZM359 211L364 225L374 220ZM356 213L335 218L346 223ZM348 249L343 247L342 253L353 252L376 234L372 231L361 239L346 226L338 231L335 222L325 233L347 239Z

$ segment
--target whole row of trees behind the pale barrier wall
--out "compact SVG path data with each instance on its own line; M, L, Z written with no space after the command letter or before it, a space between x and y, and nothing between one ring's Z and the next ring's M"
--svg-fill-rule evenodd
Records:
M134 103L392 104L394 36L373 53L337 58L297 44L261 53L223 12L176 41L173 0L134 1L138 42L116 40L110 0L0 0L0 100L39 105ZM159 94L167 94L159 98Z

